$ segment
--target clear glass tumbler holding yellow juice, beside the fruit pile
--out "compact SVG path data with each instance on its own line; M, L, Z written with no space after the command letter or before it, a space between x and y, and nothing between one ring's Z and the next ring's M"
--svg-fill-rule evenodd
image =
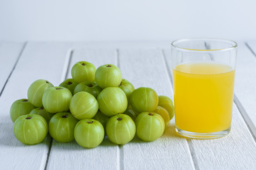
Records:
M177 133L209 139L230 132L237 44L189 38L172 42Z

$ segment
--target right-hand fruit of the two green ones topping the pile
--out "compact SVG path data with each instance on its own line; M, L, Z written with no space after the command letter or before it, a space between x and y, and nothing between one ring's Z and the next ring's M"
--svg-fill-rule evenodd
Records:
M116 65L102 65L95 72L95 81L103 89L107 87L118 87L122 81L122 73Z

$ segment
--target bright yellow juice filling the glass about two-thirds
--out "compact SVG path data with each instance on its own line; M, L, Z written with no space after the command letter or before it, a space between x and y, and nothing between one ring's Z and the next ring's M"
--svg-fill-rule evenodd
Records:
M212 133L231 125L235 70L218 62L187 62L173 69L175 124Z

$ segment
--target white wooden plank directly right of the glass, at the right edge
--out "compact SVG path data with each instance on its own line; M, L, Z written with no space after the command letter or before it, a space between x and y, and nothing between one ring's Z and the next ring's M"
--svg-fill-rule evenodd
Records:
M236 64L235 102L243 117L256 136L256 41L248 42L250 49L244 42L238 44Z

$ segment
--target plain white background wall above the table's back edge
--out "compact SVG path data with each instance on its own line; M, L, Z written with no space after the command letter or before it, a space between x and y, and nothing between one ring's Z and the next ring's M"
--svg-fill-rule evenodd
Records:
M0 40L256 39L256 0L0 0Z

